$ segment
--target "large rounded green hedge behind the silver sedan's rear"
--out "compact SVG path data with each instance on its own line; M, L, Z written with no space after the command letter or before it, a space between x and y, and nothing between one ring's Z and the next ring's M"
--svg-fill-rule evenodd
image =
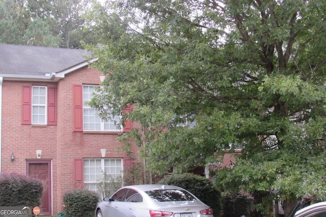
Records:
M193 173L171 174L159 181L160 184L176 185L194 194L213 209L214 216L222 213L222 196L214 184L203 176Z

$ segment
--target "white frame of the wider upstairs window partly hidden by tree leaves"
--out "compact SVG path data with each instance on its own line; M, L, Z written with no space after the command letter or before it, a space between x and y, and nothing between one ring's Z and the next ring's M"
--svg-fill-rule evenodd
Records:
M109 120L101 120L101 118L97 115L98 111L95 110L94 108L91 108L89 105L87 105L86 102L91 100L91 95L92 93L96 93L95 90L94 92L85 92L85 89L89 89L92 87L93 89L96 87L100 87L98 85L83 85L83 129L84 131L122 131L121 126L116 126L114 124L114 121L109 119ZM87 96L87 98L86 98ZM87 115L86 111L88 114L92 113L91 115ZM94 115L93 115L94 114ZM88 117L89 121L86 122L86 117ZM93 122L90 121L90 119L94 120ZM120 122L121 116L120 117L115 117L117 122ZM120 120L119 120L120 119ZM91 125L94 125L91 127ZM97 127L99 125L99 128ZM115 125L112 128L105 129L105 125Z

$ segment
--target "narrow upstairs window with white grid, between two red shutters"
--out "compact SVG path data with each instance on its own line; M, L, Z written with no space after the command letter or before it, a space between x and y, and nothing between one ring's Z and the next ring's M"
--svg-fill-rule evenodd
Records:
M46 87L32 87L32 124L46 124Z

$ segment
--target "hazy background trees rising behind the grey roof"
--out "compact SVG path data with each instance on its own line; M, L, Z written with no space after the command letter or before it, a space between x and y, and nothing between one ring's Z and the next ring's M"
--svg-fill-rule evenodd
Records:
M81 48L93 43L83 14L91 0L0 0L0 43Z

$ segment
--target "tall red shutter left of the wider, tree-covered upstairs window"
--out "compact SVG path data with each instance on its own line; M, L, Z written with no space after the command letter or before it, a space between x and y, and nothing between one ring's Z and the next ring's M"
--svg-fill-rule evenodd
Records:
M83 131L83 85L73 86L73 128Z

